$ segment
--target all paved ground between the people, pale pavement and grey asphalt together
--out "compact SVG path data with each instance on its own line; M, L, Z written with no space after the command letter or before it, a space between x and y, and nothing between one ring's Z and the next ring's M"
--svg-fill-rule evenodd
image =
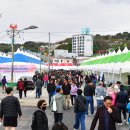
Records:
M0 99L6 96L5 94L2 94L1 92L2 91L0 91ZM14 96L18 97L17 91L14 92ZM41 99L45 99L46 101L48 101L48 95L45 88L43 88ZM30 126L31 126L31 120L32 120L32 113L36 110L36 107L34 106L36 106L38 100L39 99L35 99L35 91L29 91L27 98L20 99L20 104L22 106L22 112L23 112L23 118L19 119L17 130L31 130ZM49 108L46 110L46 113L48 116L49 127L51 130L53 126L53 122L54 122L53 113L51 112ZM69 130L73 130L74 116L75 115L73 113L73 108L71 108L70 110L64 111L63 121L69 127ZM92 117L87 117L86 130L90 129L91 122L92 122ZM0 127L0 130L3 130L3 127ZM128 126L117 127L117 130L128 130Z

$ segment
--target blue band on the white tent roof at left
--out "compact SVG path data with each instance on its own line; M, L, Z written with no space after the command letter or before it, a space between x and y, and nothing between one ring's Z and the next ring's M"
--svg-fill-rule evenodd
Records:
M0 57L0 63L8 63L11 62L11 58ZM25 63L34 63L40 64L41 61L23 54L14 54L14 62L25 62Z

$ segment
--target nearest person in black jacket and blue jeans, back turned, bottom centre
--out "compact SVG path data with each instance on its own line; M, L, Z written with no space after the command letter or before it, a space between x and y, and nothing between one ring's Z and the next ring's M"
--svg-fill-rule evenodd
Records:
M78 96L75 98L74 112L75 112L75 124L74 130L78 130L81 124L81 130L85 128L85 114L86 114L86 97L82 96L82 90L77 90Z

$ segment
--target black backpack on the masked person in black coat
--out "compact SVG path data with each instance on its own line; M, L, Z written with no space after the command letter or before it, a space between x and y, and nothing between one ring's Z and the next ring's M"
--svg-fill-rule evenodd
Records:
M31 125L31 129L32 130L37 130L37 113L38 112L41 112L43 113L42 111L40 110L36 110L33 115L32 115L32 125Z

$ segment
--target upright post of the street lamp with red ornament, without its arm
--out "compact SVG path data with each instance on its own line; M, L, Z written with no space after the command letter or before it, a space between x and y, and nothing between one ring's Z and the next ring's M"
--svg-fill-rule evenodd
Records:
M12 29L12 66L11 66L11 82L14 81L14 33L15 30Z

